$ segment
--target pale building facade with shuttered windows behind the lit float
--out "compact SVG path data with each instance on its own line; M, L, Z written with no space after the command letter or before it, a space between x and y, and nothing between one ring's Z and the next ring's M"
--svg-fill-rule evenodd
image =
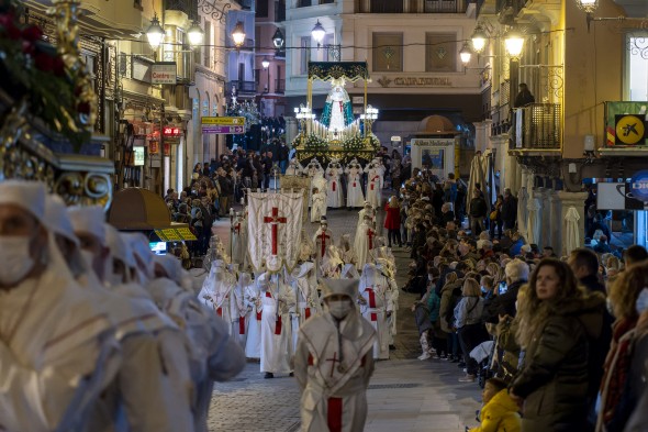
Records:
M287 111L305 103L309 60L367 62L367 103L380 110L373 133L383 145L389 147L392 136L406 144L433 114L448 118L458 130L471 129L481 115L480 77L465 69L459 52L474 26L474 3L463 0L287 2ZM311 35L317 22L325 30L320 44ZM329 88L313 85L315 112ZM347 91L360 114L361 84Z

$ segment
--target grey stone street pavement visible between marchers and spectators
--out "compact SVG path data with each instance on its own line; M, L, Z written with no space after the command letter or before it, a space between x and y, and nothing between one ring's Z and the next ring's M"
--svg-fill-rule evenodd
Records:
M355 235L358 210L328 211L328 223L336 240L344 233ZM223 242L228 240L228 219L222 226ZM317 225L309 224L312 235ZM406 280L409 253L394 251L399 287ZM477 425L480 408L477 384L461 384L463 374L456 363L440 359L420 362L418 332L410 306L415 296L401 291L398 314L396 350L391 358L378 362L367 399L368 432L463 432ZM258 363L247 363L244 372L228 383L216 384L209 417L210 432L299 431L299 390L294 378L264 379Z

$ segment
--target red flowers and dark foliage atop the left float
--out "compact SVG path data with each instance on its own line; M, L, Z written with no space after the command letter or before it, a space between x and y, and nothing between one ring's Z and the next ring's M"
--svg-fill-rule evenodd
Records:
M14 100L26 100L31 115L76 151L90 141L96 115L94 92L78 66L78 58L45 42L40 27L21 23L10 0L0 0L0 76L5 77L0 87Z

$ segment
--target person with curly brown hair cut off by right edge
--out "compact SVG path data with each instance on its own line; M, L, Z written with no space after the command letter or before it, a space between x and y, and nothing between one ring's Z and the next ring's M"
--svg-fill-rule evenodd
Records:
M610 287L610 299L616 321L601 381L596 431L639 431L646 429L646 423L632 429L635 427L626 422L633 412L640 417L638 411L644 410L640 401L648 376L648 263L622 272Z

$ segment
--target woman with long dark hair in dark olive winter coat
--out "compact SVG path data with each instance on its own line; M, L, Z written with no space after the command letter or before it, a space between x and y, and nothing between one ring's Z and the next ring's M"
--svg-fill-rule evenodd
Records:
M586 430L588 346L604 308L604 297L555 258L540 261L519 290L515 336L525 354L510 395L524 403L524 432Z

